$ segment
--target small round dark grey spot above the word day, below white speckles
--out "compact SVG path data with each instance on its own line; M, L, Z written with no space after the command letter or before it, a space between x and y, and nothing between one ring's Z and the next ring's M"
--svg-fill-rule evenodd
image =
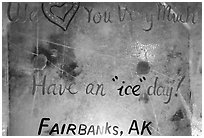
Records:
M150 71L150 66L149 66L149 63L146 62L146 61L140 61L138 64L137 64L137 74L148 74L149 71Z

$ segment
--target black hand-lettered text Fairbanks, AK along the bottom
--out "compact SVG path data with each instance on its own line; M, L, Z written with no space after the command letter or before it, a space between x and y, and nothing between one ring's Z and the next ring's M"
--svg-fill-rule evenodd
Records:
M50 118L42 118L40 121L40 126L38 129L38 135L41 135L42 132L47 132L49 135L123 135L123 131L120 130L120 127L117 125L111 125L106 122L105 125L86 125L74 123L70 124L58 124L54 123L49 126ZM132 120L130 127L128 128L128 135L137 134L143 135L145 130L149 135L152 134L150 131L152 122L143 121L141 131L138 127L137 120ZM46 130L45 130L46 129ZM44 131L43 131L44 130Z

